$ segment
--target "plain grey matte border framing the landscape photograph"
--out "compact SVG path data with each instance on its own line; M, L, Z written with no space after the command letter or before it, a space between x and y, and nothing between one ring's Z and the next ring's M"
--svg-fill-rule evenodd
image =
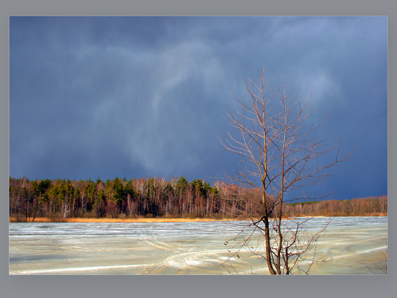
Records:
M0 4L0 289L4 297L383 297L394 293L396 194L396 5L391 0L6 0ZM388 234L387 276L9 276L9 16L138 15L380 15L388 16Z

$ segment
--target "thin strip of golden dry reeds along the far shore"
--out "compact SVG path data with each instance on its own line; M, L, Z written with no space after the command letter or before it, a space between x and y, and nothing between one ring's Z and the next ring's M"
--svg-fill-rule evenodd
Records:
M363 217L372 217L372 216L381 216L381 217L387 217L386 214L382 215L364 215ZM289 219L289 218L295 218L295 217L312 217L309 215L301 215L301 216L290 216L290 217L285 217L282 219ZM317 215L313 217L339 217L339 216L325 216L325 215ZM342 216L342 217L355 217L355 216ZM238 221L238 220L250 220L249 218L162 218L162 217L152 217L152 218L144 218L144 217L138 217L138 218L85 218L85 217L36 217L33 221L33 217L28 217L28 220L26 218L23 218L20 221L17 221L17 218L15 216L10 216L9 217L9 222L124 222L124 223L138 223L138 222L199 222L199 221Z

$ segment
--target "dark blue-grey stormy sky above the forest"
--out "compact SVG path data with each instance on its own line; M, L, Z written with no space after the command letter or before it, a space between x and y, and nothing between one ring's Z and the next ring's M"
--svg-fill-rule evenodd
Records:
M319 188L387 194L386 17L11 17L10 176L222 176L244 75L308 99L353 159Z

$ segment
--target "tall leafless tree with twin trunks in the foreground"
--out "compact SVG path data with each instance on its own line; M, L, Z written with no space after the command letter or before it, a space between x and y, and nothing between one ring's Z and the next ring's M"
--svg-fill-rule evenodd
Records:
M302 104L300 98L287 94L287 77L274 88L271 81L265 83L264 70L259 74L259 84L244 78L248 100L233 93L240 109L233 113L228 107L228 122L239 134L228 133L228 140L222 142L226 149L242 157L241 170L226 176L261 194L261 205L247 214L250 230L244 229L243 240L237 242L233 255L241 257L244 249L259 256L271 274L308 273L319 261L315 249L326 225L312 233L304 228L307 220L283 219L282 204L324 198L323 194L308 195L306 190L324 182L329 169L348 160L351 153L339 157L340 139L324 138L318 132L322 123L307 126L310 98ZM327 162L329 153L334 155ZM297 190L301 195L293 196Z

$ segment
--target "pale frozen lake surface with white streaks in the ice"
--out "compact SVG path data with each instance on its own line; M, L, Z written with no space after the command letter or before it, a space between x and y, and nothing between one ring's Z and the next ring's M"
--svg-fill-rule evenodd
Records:
M329 218L311 219L317 230ZM10 223L10 274L268 274L253 256L228 249L243 221L162 223ZM316 256L332 258L310 274L386 271L387 217L336 217ZM233 252L233 250L232 250ZM382 254L383 253L383 254ZM226 270L227 269L227 270Z

